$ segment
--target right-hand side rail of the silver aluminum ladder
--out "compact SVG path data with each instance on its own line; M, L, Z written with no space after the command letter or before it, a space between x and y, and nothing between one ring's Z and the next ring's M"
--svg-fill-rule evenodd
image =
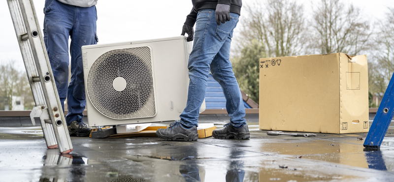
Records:
M48 106L48 114L52 121L55 137L58 141L59 150L61 153L68 153L72 151L71 139L68 134L65 116L60 102L59 94L56 89L55 79L52 74L51 64L48 59L46 47L43 41L37 16L33 5L33 0L19 0L22 14L29 32L29 40L32 51L34 52L34 59L36 60L36 67L38 75L41 80L41 86L46 98ZM33 17L33 18L31 18ZM34 36L36 31L36 36ZM32 34L30 34L30 32Z

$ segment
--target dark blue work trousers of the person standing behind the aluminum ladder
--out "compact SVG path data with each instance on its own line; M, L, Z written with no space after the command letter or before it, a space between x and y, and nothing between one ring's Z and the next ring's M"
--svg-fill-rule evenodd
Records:
M97 44L96 6L77 7L57 0L45 0L44 42L62 102L67 98L67 125L81 122L86 106L82 51L84 45ZM68 85L68 37L71 37L71 81Z

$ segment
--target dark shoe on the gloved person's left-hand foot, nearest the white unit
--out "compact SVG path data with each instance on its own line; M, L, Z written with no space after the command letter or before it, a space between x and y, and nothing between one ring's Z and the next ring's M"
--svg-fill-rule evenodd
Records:
M179 126L179 127L178 127ZM179 121L175 121L168 128L161 128L156 131L156 135L165 140L196 141L198 139L197 127L187 129Z

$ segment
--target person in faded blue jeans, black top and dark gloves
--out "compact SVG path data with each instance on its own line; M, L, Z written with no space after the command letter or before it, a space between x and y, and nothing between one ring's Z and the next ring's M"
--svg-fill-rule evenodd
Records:
M248 125L241 91L230 62L232 33L238 23L241 0L192 0L193 9L186 18L182 35L193 42L189 57L189 92L181 120L170 124L156 134L166 140L194 141L198 139L197 121L205 97L209 71L222 86L230 122L225 128L212 132L215 138L248 139ZM196 24L196 31L193 27ZM193 38L194 36L194 38Z

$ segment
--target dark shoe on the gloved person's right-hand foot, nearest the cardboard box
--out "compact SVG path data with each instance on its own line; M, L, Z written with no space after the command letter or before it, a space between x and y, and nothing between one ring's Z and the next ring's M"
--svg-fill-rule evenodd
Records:
M247 124L242 127L234 127L230 123L224 125L223 129L215 129L212 131L214 138L225 138L225 139L248 139L250 138L249 128Z

